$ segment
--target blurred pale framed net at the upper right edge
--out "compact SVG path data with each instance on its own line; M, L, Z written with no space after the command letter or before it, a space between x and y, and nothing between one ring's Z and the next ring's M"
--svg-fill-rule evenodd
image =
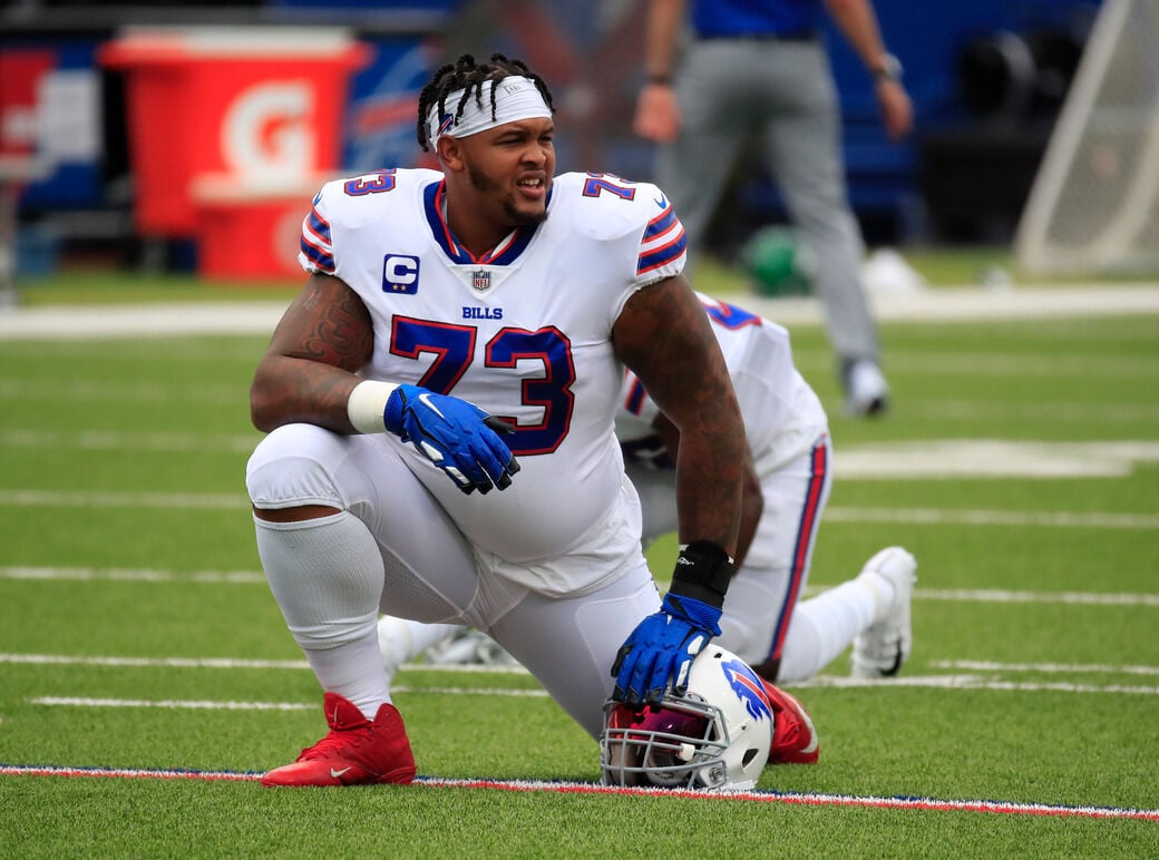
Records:
M1159 1L1103 0L1014 241L1030 274L1159 274Z

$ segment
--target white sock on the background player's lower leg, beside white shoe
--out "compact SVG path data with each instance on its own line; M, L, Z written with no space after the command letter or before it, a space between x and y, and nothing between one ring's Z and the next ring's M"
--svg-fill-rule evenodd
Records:
M875 586L881 577L874 576L873 583L867 578L843 582L797 604L781 649L778 684L814 677L874 622L879 602Z

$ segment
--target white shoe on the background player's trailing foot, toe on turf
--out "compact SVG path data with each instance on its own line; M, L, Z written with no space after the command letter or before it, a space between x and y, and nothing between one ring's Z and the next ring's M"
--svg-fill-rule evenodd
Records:
M858 578L873 577L894 592L894 600L883 615L865 633L853 640L854 678L890 678L897 675L910 658L913 632L910 625L910 602L917 582L918 562L899 546L891 546L874 555L861 569ZM870 582L879 592L877 583Z

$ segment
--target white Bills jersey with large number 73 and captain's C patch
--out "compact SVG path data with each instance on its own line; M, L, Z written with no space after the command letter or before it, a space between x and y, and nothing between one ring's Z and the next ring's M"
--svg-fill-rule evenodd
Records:
M425 169L330 182L299 261L370 309L362 376L452 394L515 427L504 440L522 471L486 496L403 446L481 563L541 592L593 588L639 554L613 432L624 367L612 326L633 293L683 270L684 227L653 184L562 174L547 219L476 260L447 226L444 195L443 174Z

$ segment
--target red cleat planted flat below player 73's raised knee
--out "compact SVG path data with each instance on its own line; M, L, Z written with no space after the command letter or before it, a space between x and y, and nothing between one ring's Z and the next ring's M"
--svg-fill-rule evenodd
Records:
M262 777L263 786L407 785L415 778L415 757L393 705L382 704L371 722L336 693L323 699L330 731L290 765Z

